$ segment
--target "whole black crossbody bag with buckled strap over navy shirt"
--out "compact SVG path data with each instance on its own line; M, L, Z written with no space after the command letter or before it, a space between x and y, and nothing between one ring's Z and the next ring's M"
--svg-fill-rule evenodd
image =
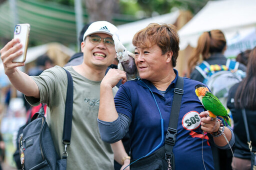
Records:
M172 148L177 134L178 115L183 95L183 78L178 76L174 88L173 100L170 111L170 120L165 136L164 146L142 159L131 160L130 170L174 170L174 155Z

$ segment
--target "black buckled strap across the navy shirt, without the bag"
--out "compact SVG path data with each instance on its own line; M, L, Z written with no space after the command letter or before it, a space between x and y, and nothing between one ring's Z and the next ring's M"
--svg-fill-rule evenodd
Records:
M173 100L170 111L170 120L164 142L165 160L167 162L170 162L172 158L172 148L176 140L178 114L180 110L181 98L183 95L183 84L183 78L178 76L176 87L174 88Z

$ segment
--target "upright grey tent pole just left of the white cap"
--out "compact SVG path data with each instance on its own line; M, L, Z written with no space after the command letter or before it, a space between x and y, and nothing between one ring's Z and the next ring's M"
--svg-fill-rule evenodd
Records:
M79 34L83 27L81 0L74 0L74 12L75 12L77 50L79 51L80 50Z

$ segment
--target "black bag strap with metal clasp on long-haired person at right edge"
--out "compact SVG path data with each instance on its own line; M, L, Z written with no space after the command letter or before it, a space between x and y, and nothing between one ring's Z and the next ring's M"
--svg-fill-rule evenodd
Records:
M245 126L248 147L250 150L250 162L251 162L250 170L256 170L256 152L252 152L252 146L251 146L251 140L249 136L249 129L248 129L248 123L247 123L247 118L245 114L245 109L242 109L242 119Z

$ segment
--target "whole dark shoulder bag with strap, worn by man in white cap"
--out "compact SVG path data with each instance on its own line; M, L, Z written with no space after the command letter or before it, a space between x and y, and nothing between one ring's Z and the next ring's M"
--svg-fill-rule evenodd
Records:
M44 109L41 107L40 111L35 113L31 121L23 128L19 137L19 157L22 170L66 170L68 157L66 147L70 144L71 138L73 81L71 74L67 70L65 71L68 83L62 136L64 144L62 159L59 159L55 151L44 117Z

